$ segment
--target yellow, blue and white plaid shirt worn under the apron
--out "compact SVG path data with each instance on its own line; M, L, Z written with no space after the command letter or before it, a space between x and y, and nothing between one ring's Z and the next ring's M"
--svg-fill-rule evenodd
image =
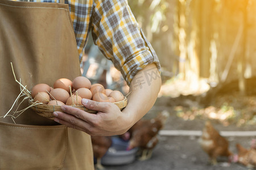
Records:
M30 0L34 1L59 2ZM106 58L112 60L128 84L149 63L156 63L160 71L158 57L138 27L126 0L65 0L65 3L69 5L80 61L89 32L92 31L94 44Z

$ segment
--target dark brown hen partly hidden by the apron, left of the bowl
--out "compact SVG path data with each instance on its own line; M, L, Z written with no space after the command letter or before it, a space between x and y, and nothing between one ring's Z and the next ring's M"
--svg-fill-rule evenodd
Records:
M104 169L101 158L106 154L112 145L111 137L92 136L93 156L97 159L96 169Z

